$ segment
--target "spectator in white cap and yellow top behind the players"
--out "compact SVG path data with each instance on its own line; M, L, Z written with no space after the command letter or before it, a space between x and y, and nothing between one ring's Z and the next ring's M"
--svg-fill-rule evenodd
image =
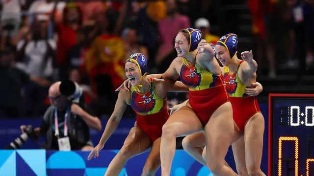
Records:
M216 35L210 33L210 23L206 18L199 18L195 21L195 28L200 29L202 34L202 39L205 39L207 43L216 44L220 39Z

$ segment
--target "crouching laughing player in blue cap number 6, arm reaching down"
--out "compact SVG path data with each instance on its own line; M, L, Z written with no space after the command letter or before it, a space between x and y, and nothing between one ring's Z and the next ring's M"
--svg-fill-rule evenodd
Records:
M105 131L98 145L91 151L88 160L99 157L105 142L117 128L127 105L136 112L136 125L130 130L119 153L110 162L105 176L118 176L125 163L134 155L151 148L143 168L143 176L155 175L160 166L160 140L162 125L167 121L167 91L187 91L181 82L165 79L155 82L146 76L147 59L141 53L134 53L125 64L125 73L131 82L131 92L121 89Z

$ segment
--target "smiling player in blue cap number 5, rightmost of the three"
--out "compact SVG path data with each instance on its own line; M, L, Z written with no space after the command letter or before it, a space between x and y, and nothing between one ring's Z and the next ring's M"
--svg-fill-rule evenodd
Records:
M257 63L252 50L241 53L242 60L236 56L237 36L233 33L220 38L215 46L216 57L221 67L227 91L230 95L235 121L235 135L232 144L237 173L241 176L265 176L260 169L262 160L264 118L260 111L254 89ZM249 92L249 93L246 93ZM255 95L255 96L249 96ZM183 148L202 164L202 147L205 145L204 133L188 135L183 139ZM205 151L204 151L205 153Z

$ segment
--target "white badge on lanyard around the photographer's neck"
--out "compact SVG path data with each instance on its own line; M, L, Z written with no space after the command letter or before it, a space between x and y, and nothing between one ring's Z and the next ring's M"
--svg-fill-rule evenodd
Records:
M58 124L58 116L57 116L57 109L54 109L54 135L58 137L58 146L59 151L70 151L71 145L70 145L70 138L68 137L68 126L67 126L67 116L69 114L70 108L67 108L67 111L64 115L64 136L65 137L59 137L59 124Z

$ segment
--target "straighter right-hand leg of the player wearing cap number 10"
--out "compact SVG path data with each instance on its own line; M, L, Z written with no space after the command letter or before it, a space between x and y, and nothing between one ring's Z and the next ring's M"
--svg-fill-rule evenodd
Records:
M220 106L205 126L206 159L210 171L217 176L234 176L224 158L234 133L234 120L230 102Z

